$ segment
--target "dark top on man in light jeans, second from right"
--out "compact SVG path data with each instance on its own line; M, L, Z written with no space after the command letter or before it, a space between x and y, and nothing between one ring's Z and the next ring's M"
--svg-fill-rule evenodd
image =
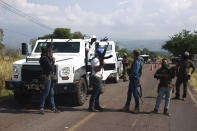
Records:
M159 86L160 87L169 87L172 86L172 79L175 77L175 70L173 68L165 68L161 67L159 68L154 78L157 78L160 80Z

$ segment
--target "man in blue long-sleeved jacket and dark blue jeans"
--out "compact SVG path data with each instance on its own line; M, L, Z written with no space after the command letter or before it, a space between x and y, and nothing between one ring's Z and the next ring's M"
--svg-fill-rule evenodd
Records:
M130 73L129 73L129 88L128 88L128 94L127 94L127 101L125 106L123 107L123 111L129 111L130 103L131 103L131 97L132 94L135 99L135 109L134 113L138 113L140 108L139 108L139 96L138 96L138 86L140 85L140 76L142 73L142 64L139 58L139 52L137 50L133 51L133 56L134 56L134 62L131 65Z

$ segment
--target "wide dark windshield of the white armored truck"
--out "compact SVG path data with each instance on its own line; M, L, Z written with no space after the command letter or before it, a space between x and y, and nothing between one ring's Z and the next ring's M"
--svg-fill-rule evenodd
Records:
M41 48L49 46L51 42L39 42L35 52L40 53ZM78 53L80 42L53 42L53 53Z

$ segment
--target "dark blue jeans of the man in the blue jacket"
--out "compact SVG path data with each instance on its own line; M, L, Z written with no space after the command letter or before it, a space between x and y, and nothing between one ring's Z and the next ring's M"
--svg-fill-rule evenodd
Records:
M129 88L128 88L128 94L127 94L127 102L126 105L129 106L131 103L131 97L132 94L134 96L135 99L135 107L138 108L139 107L139 96L138 96L138 86L140 85L138 80L130 80L129 82Z

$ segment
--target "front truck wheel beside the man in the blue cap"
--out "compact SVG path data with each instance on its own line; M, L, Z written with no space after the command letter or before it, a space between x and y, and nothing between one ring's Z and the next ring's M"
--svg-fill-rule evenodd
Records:
M81 78L79 83L77 84L77 92L76 92L76 104L81 106L85 103L87 98L87 84L84 78Z

